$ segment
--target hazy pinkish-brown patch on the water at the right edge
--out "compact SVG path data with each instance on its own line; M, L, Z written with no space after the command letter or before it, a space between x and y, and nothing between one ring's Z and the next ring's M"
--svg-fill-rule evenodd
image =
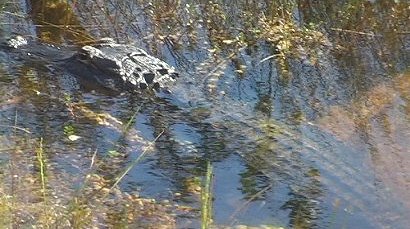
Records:
M408 112L402 109L407 107L408 86L408 74L396 77L368 91L352 105L351 111L335 107L320 120L320 125L341 141L368 151L378 182L404 200L410 198L406 177Z

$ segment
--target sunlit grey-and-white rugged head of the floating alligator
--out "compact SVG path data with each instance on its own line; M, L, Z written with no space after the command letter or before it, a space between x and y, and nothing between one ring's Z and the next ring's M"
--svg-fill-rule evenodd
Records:
M74 58L101 71L104 80L120 80L133 88L159 89L178 77L172 66L144 50L107 38L96 45L83 46Z

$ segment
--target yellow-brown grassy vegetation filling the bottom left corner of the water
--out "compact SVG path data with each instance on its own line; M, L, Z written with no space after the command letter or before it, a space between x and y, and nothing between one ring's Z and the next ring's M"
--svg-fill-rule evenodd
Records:
M16 122L15 129L18 129L17 125ZM87 171L81 172L79 177L71 177L61 171L57 173L58 165L51 162L43 138L37 143L30 143L30 135L23 137L17 132L13 135L18 142L10 142L10 146L15 146L1 151L2 157L10 152L7 160L2 158L2 228L13 225L41 228L145 227L156 223L173 227L175 221L170 212L178 206L170 202L157 203L154 199L140 197L138 193L124 193L117 186L148 148L116 179L107 180L98 174L101 163L105 167L109 165L104 158L97 156L97 151L87 159ZM21 149L20 146L29 146L27 144L33 145L33 158L23 158L30 155L25 151L30 152L31 149Z

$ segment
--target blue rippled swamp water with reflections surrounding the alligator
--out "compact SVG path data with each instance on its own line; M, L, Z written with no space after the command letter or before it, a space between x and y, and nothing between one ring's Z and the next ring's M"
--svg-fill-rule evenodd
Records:
M306 52L290 55L284 69L267 59L277 52L269 42L247 33L262 12L280 14L274 3L200 2L2 2L2 37L68 46L110 36L166 60L182 78L170 95L113 94L51 62L0 52L1 145L24 155L42 137L62 177L84 175L95 151L116 152L99 171L112 178L160 136L122 190L199 211L190 181L210 161L215 225L407 228L408 4L300 1L282 9L297 23L321 25L326 38L315 54L302 45ZM230 45L238 31L246 46ZM175 217L177 227L199 225L198 214Z

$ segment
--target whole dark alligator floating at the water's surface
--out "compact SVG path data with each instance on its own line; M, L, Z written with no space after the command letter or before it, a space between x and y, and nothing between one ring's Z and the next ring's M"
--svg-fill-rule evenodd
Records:
M69 72L95 79L107 88L127 86L134 90L165 88L179 74L164 61L133 45L119 44L111 38L102 38L82 47L56 47L29 42L16 36L2 43L2 47L24 55L24 58L47 59Z

